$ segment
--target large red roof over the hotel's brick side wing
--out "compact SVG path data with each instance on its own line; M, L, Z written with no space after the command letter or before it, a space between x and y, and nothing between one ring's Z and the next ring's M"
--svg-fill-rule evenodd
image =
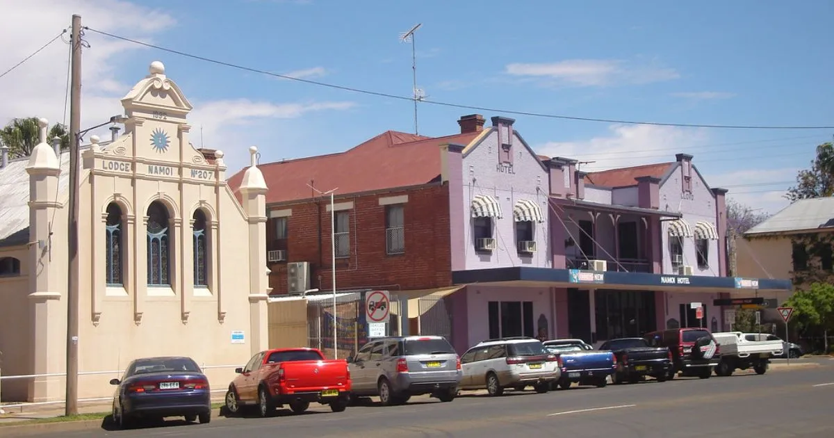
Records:
M322 191L338 188L337 196L427 184L440 175L440 144L466 145L478 134L431 138L387 131L345 152L260 164L269 187L266 202L274 204L318 196L307 185L311 181ZM235 194L246 169L229 178Z

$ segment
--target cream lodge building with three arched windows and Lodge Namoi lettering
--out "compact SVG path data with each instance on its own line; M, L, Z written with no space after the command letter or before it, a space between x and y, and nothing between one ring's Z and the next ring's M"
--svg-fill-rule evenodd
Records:
M268 345L266 184L252 167L240 203L221 151L188 141L192 106L154 62L122 99L124 133L94 136L78 174L78 395L108 395L130 360L189 355L214 388ZM3 400L63 400L68 152L40 143L0 168ZM117 131L118 132L118 131ZM58 154L56 153L58 152Z

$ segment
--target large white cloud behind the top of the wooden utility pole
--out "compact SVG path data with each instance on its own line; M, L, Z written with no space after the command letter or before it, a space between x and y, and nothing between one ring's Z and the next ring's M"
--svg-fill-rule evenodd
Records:
M0 14L0 28L14 38L0 38L0 68L5 70L18 63L61 29L68 28L73 13L82 17L84 26L143 41L176 23L166 13L119 0L6 2ZM69 33L63 39L68 42ZM137 44L92 31L87 31L84 39L90 47L83 50L82 127L102 123L123 112L119 98L130 85L118 80L115 68L119 63L114 59L143 50ZM12 118L32 116L48 118L50 123L68 123L68 111L65 118L64 108L68 54L69 44L58 40L0 79L0 125ZM129 78L130 83L133 80ZM107 133L106 128L103 132Z

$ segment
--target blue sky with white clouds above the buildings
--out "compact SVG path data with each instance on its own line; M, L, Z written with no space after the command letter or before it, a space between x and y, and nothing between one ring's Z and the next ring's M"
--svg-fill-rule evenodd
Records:
M711 187L775 213L786 188L834 129L685 128L566 120L834 126L834 3L738 0L515 4L363 0L0 0L0 73L83 25L247 68L410 97L417 23L420 134L459 132L481 113L515 118L540 154L594 171L673 161L687 153ZM164 63L193 104L192 143L221 149L228 174L249 163L349 149L386 130L414 132L408 99L329 88L230 68L88 30L82 126L122 112L119 99ZM63 40L68 41L68 34ZM68 122L69 45L58 39L0 78L0 123ZM489 122L487 122L489 125ZM108 138L107 128L98 132Z

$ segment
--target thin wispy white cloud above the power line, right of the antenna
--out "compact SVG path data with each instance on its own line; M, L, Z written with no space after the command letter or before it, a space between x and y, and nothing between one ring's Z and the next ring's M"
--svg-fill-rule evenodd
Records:
M649 63L625 62L617 59L568 59L556 63L511 63L505 73L535 79L542 85L570 84L580 87L602 87L620 84L641 84L680 78L674 68Z

